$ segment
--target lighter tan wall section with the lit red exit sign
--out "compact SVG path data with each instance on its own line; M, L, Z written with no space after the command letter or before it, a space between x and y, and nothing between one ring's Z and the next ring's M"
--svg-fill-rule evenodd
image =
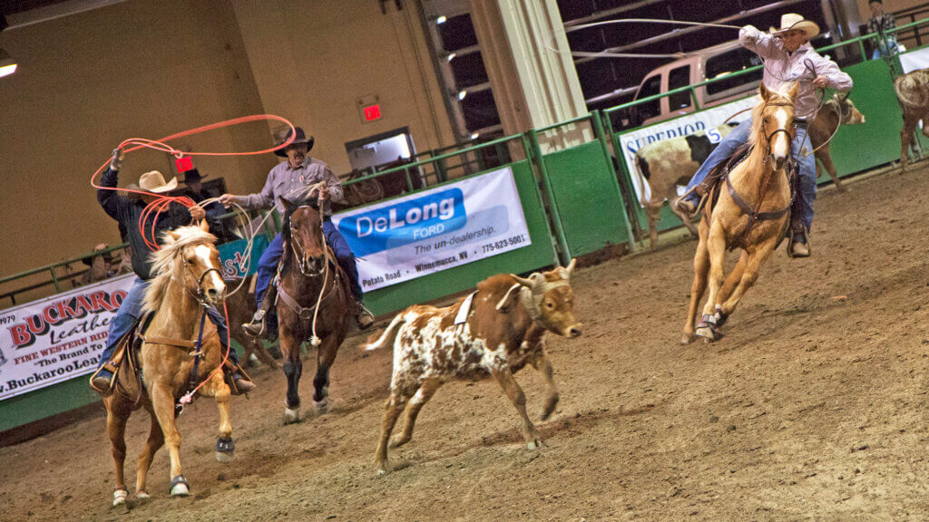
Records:
M369 0L232 0L268 112L316 137L310 155L350 170L347 141L409 126L417 150L454 142L415 5ZM362 123L356 100L380 98Z

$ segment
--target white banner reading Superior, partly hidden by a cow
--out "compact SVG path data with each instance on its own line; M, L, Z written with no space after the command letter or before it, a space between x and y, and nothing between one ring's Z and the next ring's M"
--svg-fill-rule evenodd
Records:
M651 143L657 143L674 137L685 137L695 133L706 133L713 143L718 143L721 137L719 137L718 134L714 134L715 131L713 129L722 125L729 116L739 111L751 109L757 103L758 97L752 96L749 98L742 98L724 103L723 105L717 105L705 111L688 114L687 116L681 116L674 120L650 125L621 135L620 144L622 146L622 159L626 163L626 168L629 169L629 175L633 180L633 186L635 187L635 193L638 196L639 204L641 204L643 197L646 200L651 197L651 189L648 187L648 184L643 188L640 181L641 177L636 174L635 152ZM729 123L738 124L751 117L752 111L745 111L733 117L729 120Z

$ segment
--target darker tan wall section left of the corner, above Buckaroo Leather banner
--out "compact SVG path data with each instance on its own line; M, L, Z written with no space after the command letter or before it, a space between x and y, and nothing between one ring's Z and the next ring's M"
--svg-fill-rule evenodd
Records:
M263 111L225 0L132 0L7 30L0 46L20 62L0 79L3 276L119 240L89 179L124 138ZM176 145L221 151L270 143L267 125L246 124ZM204 175L225 176L230 189L260 189L275 162L267 154L196 163ZM170 172L168 156L129 154L120 182L152 168Z

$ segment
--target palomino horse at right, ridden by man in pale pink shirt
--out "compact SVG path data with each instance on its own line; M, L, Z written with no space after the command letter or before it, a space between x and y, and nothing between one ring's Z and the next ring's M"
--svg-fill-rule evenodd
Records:
M700 244L694 255L694 281L690 309L684 323L684 343L694 334L706 342L718 337L717 328L739 304L739 299L758 279L758 271L784 237L791 207L791 143L794 136L793 101L797 85L787 92L760 88L762 102L752 111L752 151L742 163L724 175L703 209ZM724 168L727 168L724 166ZM723 187L726 189L723 189ZM739 263L724 285L726 248L742 248ZM694 331L697 307L707 285L710 295L703 318Z

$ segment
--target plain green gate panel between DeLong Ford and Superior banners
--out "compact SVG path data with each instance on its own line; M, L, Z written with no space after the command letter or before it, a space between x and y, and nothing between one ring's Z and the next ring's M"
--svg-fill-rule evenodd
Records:
M625 207L599 141L543 156L571 255L629 241Z

